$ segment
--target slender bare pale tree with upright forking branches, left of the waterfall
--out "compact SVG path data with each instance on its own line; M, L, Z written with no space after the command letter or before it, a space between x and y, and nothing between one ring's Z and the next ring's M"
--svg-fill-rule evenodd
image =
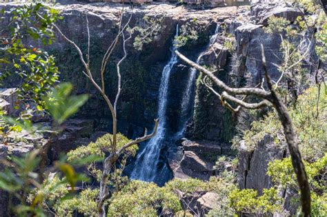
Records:
M143 30L142 28L135 26L133 28L130 27L130 21L133 16L133 12L129 14L128 20L126 23L123 23L123 17L125 15L124 9L121 10L121 13L119 15L119 23L118 23L118 33L115 37L115 39L108 45L108 49L106 50L106 53L103 55L102 62L101 62L101 67L98 73L99 77L101 78L101 82L97 83L94 79L94 72L92 72L90 68L90 63L92 61L90 60L90 28L89 28L89 23L88 23L88 16L86 15L86 28L88 32L88 50L86 54L83 54L81 48L75 43L75 41L72 41L71 39L68 39L68 37L60 30L60 28L52 23L52 26L54 27L57 32L65 39L70 45L72 45L75 50L77 50L79 54L79 59L81 61L81 64L83 65L84 71L81 72L83 73L87 79L92 83L92 85L95 87L97 92L99 92L103 98L103 100L106 102L106 105L108 106L108 110L110 110L110 114L112 117L112 138L110 138L110 153L108 156L105 157L103 161L103 170L101 174L101 179L99 183L99 197L97 198L97 203L98 203L98 211L99 211L99 216L106 216L106 200L110 197L110 191L108 189L108 177L112 172L115 170L115 164L117 163L119 157L126 152L126 149L129 147L132 147L133 145L137 145L143 141L146 141L153 136L155 136L157 132L157 127L159 120L155 119L155 127L154 130L151 134L148 134L148 130L145 130L145 133L143 136L136 138L135 140L129 141L126 144L123 145L117 145L119 141L117 141L117 102L119 100L119 96L121 95L121 64L123 61L126 60L126 57L128 55L128 52L126 50L126 43L132 39L132 34L134 32L141 32L139 34L139 39L137 45L139 45L139 41L141 41L142 37L149 37L152 34L156 34L154 30L157 28L154 28L152 25L158 25L158 23L153 23L152 21L148 21L151 23L150 28L147 28L147 30ZM148 20L148 19L147 19ZM147 32L148 31L148 32ZM122 49L123 49L123 56L121 59L116 64L116 73L117 73L117 92L115 95L115 99L112 101L108 93L106 92L106 81L105 81L105 76L108 74L108 70L106 70L108 63L111 61L112 53L118 48L119 41L121 40L122 43Z

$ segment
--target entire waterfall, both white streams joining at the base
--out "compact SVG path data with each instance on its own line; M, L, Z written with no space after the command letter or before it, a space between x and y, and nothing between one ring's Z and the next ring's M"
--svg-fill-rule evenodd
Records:
M176 30L176 37L178 36L178 25ZM215 34L210 37L210 42L206 46L205 51L215 43L219 33L219 24L215 30ZM155 137L151 138L150 141L146 144L146 147L143 148L141 153L137 155L137 159L134 163L134 168L130 174L130 178L144 180L144 181L153 181L158 185L164 185L166 180L171 177L170 169L166 165L166 162L162 161L161 149L165 145L175 144L176 141L184 135L186 124L190 118L190 107L192 107L191 96L194 88L195 78L197 75L197 70L190 69L188 83L186 89L182 95L181 101L181 121L179 124L178 132L168 132L168 123L166 118L167 113L167 104L168 104L168 85L170 72L173 66L177 63L177 55L175 54L175 45L172 45L171 57L167 65L164 67L161 76L161 83L159 87L159 106L158 106L158 116L159 116L159 126L157 134ZM197 63L201 61L204 52L201 52L197 58ZM174 146L174 145L172 145Z

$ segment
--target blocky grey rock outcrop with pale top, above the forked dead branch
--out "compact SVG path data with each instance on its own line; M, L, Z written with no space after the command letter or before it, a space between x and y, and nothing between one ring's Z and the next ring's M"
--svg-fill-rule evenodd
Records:
M281 65L280 43L278 34L266 34L263 25L247 23L235 30L236 54L233 74L237 79L247 77L248 85L256 85L264 76L264 68L261 60L261 45L267 51L266 59L268 73L273 79L280 75L278 65Z

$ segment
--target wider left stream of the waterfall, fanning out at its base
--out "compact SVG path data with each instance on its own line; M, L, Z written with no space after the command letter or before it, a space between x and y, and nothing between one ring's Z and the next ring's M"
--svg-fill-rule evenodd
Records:
M176 35L178 36L178 24L176 27ZM167 65L162 70L161 82L159 87L158 99L158 117L159 126L155 137L151 138L146 147L141 153L137 155L135 167L130 174L130 178L145 181L154 181L157 175L157 164L159 163L160 149L166 136L166 108L168 99L168 85L170 78L170 71L177 63L177 55L175 54L175 44L173 43L171 49L171 57ZM164 165L166 167L166 165ZM165 168L163 168L165 169ZM168 169L166 167L166 169Z

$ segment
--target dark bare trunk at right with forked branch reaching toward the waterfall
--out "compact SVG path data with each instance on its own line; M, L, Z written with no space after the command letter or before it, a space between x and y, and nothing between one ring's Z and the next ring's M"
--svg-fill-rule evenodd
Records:
M286 141L288 143L288 150L290 152L290 157L292 160L293 168L295 170L295 174L297 175L297 183L299 185L300 193L301 193L301 205L302 205L302 212L304 216L310 216L310 186L308 183L308 177L306 175L306 170L304 168L304 163L301 159L301 154L299 153L299 147L298 147L298 141L297 141L297 135L295 134L295 128L293 126L292 120L290 118L290 115L288 114L287 107L284 105L284 103L279 99L277 96L277 93L275 92L273 88L273 82L270 79L270 76L268 75L268 68L266 66L266 56L264 54L264 46L261 45L262 50L262 63L264 65L265 70L265 77L266 77L266 83L269 88L269 92L266 90L263 90L261 88L257 87L241 87L241 88L233 88L226 85L223 81L217 78L212 72L209 70L206 70L206 68L201 67L201 65L198 65L197 63L194 63L193 61L190 61L190 59L186 58L183 54L179 53L177 50L175 51L177 56L190 65L192 68L195 68L199 70L199 72L202 72L208 76L215 85L220 87L222 90L224 90L223 94L217 93L215 90L213 90L212 87L206 85L206 82L204 81L205 85L209 87L209 89L214 92L220 99L221 103L223 105L226 105L224 99L228 99L229 101L232 101L234 103L237 103L237 105L241 107L245 107L247 109L257 109L259 107L266 107L273 105L275 109L277 110L277 113L279 114L279 119L281 121L281 124L284 128L284 134L286 137ZM260 84L259 84L260 85ZM244 99L247 96L257 96L259 99L263 99L263 101L259 103L246 103L244 100L237 99L235 96L232 95L245 95Z

